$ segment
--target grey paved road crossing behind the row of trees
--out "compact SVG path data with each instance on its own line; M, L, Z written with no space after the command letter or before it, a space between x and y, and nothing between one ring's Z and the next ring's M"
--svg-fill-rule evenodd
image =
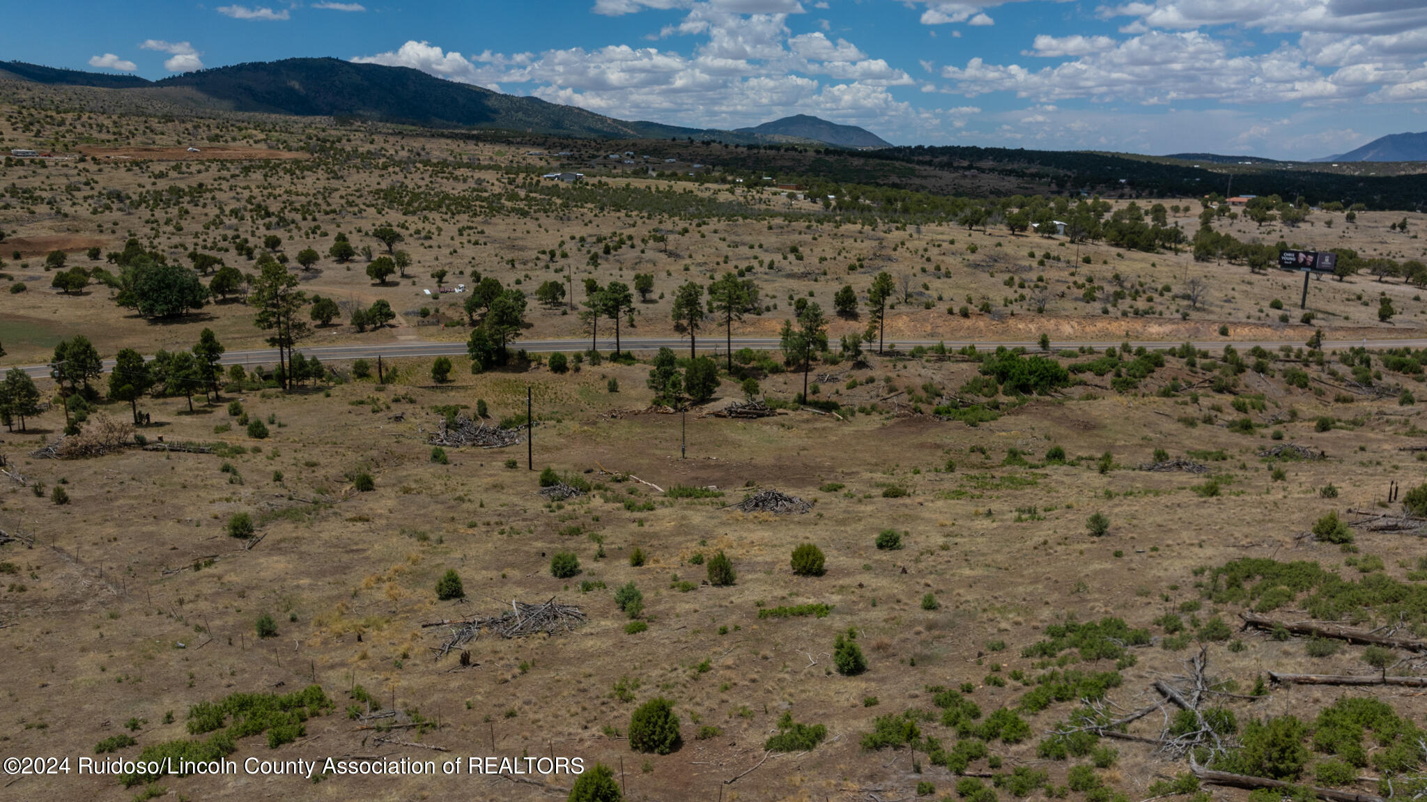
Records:
M1207 351L1222 351L1224 345L1233 345L1241 351L1260 345L1269 350L1277 350L1280 345L1291 345L1297 348L1303 345L1307 340L1307 333L1303 337L1291 340L1203 340L1194 342L1194 347ZM614 351L614 338L605 340L599 338L601 351ZM890 341L888 341L890 344ZM896 345L900 348L910 348L916 345L936 345L938 340L898 340ZM1019 340L955 340L945 341L948 348L962 348L965 345L976 345L977 348L995 350L999 345L1007 348L1025 347L1030 351L1037 351L1040 345L1035 341L1019 341ZM1053 340L1050 347L1055 350L1063 348L1082 348L1090 347L1097 351L1104 348L1119 347L1123 340L1116 341L1100 341L1100 340ZM1140 345L1146 348L1167 348L1170 345L1180 345L1180 342L1169 342L1162 340L1130 340L1130 347L1139 348ZM689 341L682 337L622 337L619 344L625 351L656 351L665 345L674 348L675 352L685 352L689 347ZM521 340L514 344L517 348L524 348L532 352L547 354L551 351L584 351L589 347L589 340ZM1427 338L1411 338L1411 340L1324 340L1324 347L1327 350L1334 348L1350 348L1356 345L1366 345L1370 350L1381 348L1427 348ZM735 337L733 348L753 348L753 350L776 350L779 341L776 337ZM699 351L705 354L712 354L714 350L719 352L723 351L723 340L715 340L712 337L699 338ZM327 361L344 361L344 360L375 360L378 354L384 358L401 358L401 357L464 357L465 342L372 342L372 344L350 344L350 345L314 345L310 348L298 348L307 357L317 357ZM223 364L225 365L267 365L273 367L277 364L277 350L274 348L260 348L257 351L228 351L223 355ZM114 360L104 360L104 370L111 370L114 367ZM49 377L49 365L23 365L24 371L34 378Z

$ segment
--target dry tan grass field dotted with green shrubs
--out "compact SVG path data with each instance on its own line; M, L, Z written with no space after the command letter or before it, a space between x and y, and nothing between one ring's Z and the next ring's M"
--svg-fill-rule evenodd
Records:
M9 91L13 100L19 90ZM100 267L106 260L91 263L88 247L118 251L133 235L180 264L197 248L251 270L235 240L261 248L263 237L277 233L277 251L294 260L307 247L323 254L315 270L291 265L303 290L334 297L345 311L387 300L400 315L397 325L360 333L342 324L344 313L304 347L464 341L461 297L422 293L435 291L432 270L448 271L447 285L472 283L478 271L531 293L569 277L577 300L586 277L632 284L634 274L652 273L651 300L635 303L635 325L624 330L632 337L675 333L672 294L689 278L752 268L765 310L733 334L768 337L778 335L796 298L816 300L831 315L833 293L848 283L859 293L860 315L833 318L836 341L868 325L866 290L885 270L913 277L889 313L889 344L1047 334L1050 354L1009 358L1073 372L1022 395L1006 377L997 390L986 375L996 360L983 354L903 348L860 364L833 354L812 367L811 395L836 402L838 414L782 404L791 408L731 420L708 412L743 400L741 377L725 377L706 405L666 414L652 405L648 362L585 361L554 372L537 360L472 374L459 357L451 360L451 381L435 382L431 360L394 358L385 360L384 384L334 362L330 381L291 392L248 374L227 384L217 402L195 397L191 412L181 395L138 401L153 418L137 430L148 444L207 444L210 452L130 445L84 460L33 454L66 427L53 405L29 418L26 431L16 425L0 435L9 471L0 475L0 531L14 538L0 542L6 758L137 759L230 726L230 758L240 765L578 756L612 766L628 799L1240 799L1246 791L1154 786L1184 775L1189 758L1177 748L1183 741L1159 743L1187 735L1183 715L1153 684L1189 694L1194 681L1184 675L1203 654L1204 685L1193 695L1203 711L1227 709L1236 719L1233 728L1214 719L1223 739L1216 758L1229 753L1239 769L1263 769L1261 751L1250 755L1261 745L1253 722L1296 715L1329 732L1321 709L1340 696L1371 698L1403 718L1378 716L1366 741L1359 732L1366 752L1354 776L1337 782L1333 773L1343 771L1334 749L1343 756L1351 745L1329 748L1306 731L1294 741L1301 759L1287 749L1283 761L1296 766L1274 768L1276 776L1364 795L1386 795L1377 778L1396 778L1400 796L1421 788L1413 785L1423 773L1413 738L1427 726L1420 689L1256 688L1270 671L1370 676L1378 669L1364 662L1363 645L1240 631L1239 619L1254 608L1284 622L1321 618L1321 599L1339 594L1334 604L1353 602L1331 608L1339 624L1427 636L1421 521L1367 525L1370 514L1401 512L1403 498L1388 501L1393 482L1404 495L1423 484L1416 450L1427 435L1418 402L1427 401L1420 398L1427 357L1373 354L1364 367L1363 354L1304 347L1316 328L1341 338L1421 337L1427 305L1401 278L1314 281L1309 305L1317 318L1306 325L1297 274L1250 274L1239 264L1194 263L1187 253L1093 243L1077 250L1062 238L945 223L839 225L819 220L812 204L786 211L796 201L766 188L658 177L596 184L594 168L584 184L552 186L501 167L544 171L554 160L457 137L297 120L244 127L0 108L4 141L44 143L57 128L93 140L76 146L81 153L214 141L314 156L156 161L136 150L123 166L7 164L0 270L10 275L4 284L26 284L0 293L7 368L44 362L76 334L104 357L124 347L184 350L203 328L230 351L261 348L253 307L210 304L177 321L147 323L117 307L103 284L78 294L51 290L44 254L66 243L59 247L68 264ZM579 156L585 164L599 156L594 147ZM1197 203L1163 203L1183 205L1173 220L1197 227ZM735 205L779 214L743 218L728 211ZM685 208L708 214L685 223ZM1403 217L1367 211L1349 224L1341 213L1314 213L1297 228L1259 231L1236 221L1226 230L1244 240L1421 258L1416 233L1427 215L1406 214L1407 231L1390 228ZM350 264L327 255L340 231L380 255L384 247L370 233L384 224L405 237L397 245L412 258L405 278L375 285L361 255ZM668 253L656 235L668 238ZM618 247L605 254L605 244ZM1092 277L1102 294L1086 303ZM1196 304L1183 297L1192 278L1210 288ZM1116 298L1114 290L1126 295ZM1376 314L1381 293L1397 310L1388 321ZM1291 313L1290 323L1280 323L1273 300ZM980 311L983 303L990 311ZM1037 303L1045 313L1035 311ZM422 325L430 321L437 324ZM534 298L528 323L527 340L588 337L577 315ZM712 321L705 325L701 345L721 334ZM1162 364L1156 354L1106 357L1055 345L1162 340L1167 348L1192 338L1300 345L1160 354ZM569 352L581 350L572 342ZM783 371L779 354L739 372L756 378L769 400L802 391L803 377ZM49 401L53 382L40 388ZM524 442L432 450L447 414L475 415L484 405L489 422L514 422L527 391L537 418L534 469ZM103 415L127 421L130 410L101 397L86 427L97 428ZM265 435L254 437L247 421L263 421ZM1260 455L1286 444L1324 458ZM1142 469L1162 458L1204 472ZM588 491L547 501L538 479L547 467L588 482ZM765 489L812 508L791 515L732 508ZM1351 535L1331 527L1314 535L1330 512L1363 525L1347 529ZM230 522L244 514L253 537L230 537ZM1090 525L1097 515L1107 522L1099 534ZM878 547L886 531L899 535L899 548ZM1343 539L1351 542L1333 542ZM826 555L822 575L791 568L792 551L809 542ZM631 559L636 551L639 565ZM578 574L552 577L559 552L578 558ZM709 581L719 552L736 571L731 585ZM1303 562L1327 574L1297 565L1296 574L1263 582L1254 577L1264 574L1251 571L1249 579L1226 578L1226 565L1247 558L1273 561L1254 564L1257 571ZM459 577L464 598L437 598L448 571ZM642 594L636 615L615 601L631 582ZM464 645L469 665L459 648L437 659L432 649L448 628L422 626L551 598L578 605L585 624L509 639L482 632ZM1107 624L1107 635L1076 628L1106 618L1124 628ZM843 675L833 652L849 631L866 669ZM1390 662L1390 675L1423 674L1421 655L1408 649L1396 649ZM284 729L288 724L240 731L231 716L198 725L204 702L313 684L332 706L300 731ZM681 722L682 743L666 755L636 752L628 738L631 715L654 698L669 699ZM968 701L976 718L958 719ZM1159 706L1124 732L1083 743L1069 759L1056 753L1050 734L1083 724L1076 711L1119 718L1147 705ZM788 729L785 714L825 726L825 736L811 748L766 749ZM987 722L1002 726L986 729ZM1193 715L1189 725L1194 729ZM913 726L910 743L888 735ZM890 741L869 741L875 731ZM114 752L96 753L118 736L133 743L110 741ZM1200 745L1213 746L1213 738L1203 734ZM956 749L960 765L949 758ZM238 775L126 786L116 776L16 775L0 778L0 799L562 799L574 779Z

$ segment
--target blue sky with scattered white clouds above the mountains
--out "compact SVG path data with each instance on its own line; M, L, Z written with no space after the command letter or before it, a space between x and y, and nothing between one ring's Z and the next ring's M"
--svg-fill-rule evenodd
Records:
M896 144L1310 158L1427 128L1424 0L54 0L0 30L0 59L148 78L293 56Z

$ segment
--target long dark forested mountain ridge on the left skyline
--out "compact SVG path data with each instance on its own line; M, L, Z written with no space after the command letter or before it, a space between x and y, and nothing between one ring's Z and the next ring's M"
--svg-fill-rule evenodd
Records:
M424 127L477 127L592 138L694 138L729 144L831 144L889 147L876 134L803 114L756 128L686 128L626 121L574 106L547 103L437 78L410 67L340 59L284 59L198 70L150 81L137 76L84 73L0 63L0 77L154 94L180 107L294 116L331 116Z

